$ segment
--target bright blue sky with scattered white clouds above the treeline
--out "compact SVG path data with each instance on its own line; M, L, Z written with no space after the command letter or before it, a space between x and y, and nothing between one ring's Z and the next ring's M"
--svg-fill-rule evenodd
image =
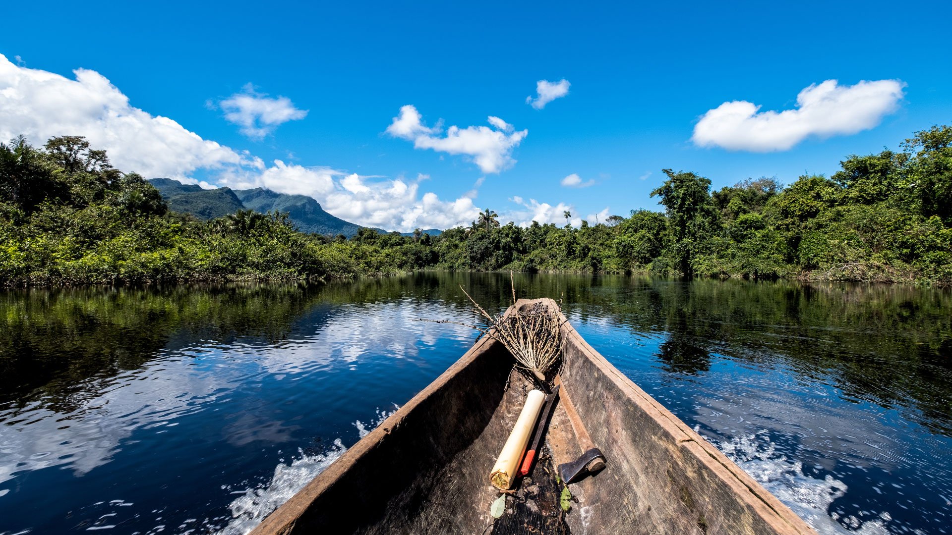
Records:
M0 134L87 135L125 170L304 192L407 230L477 208L520 223L658 208L662 168L789 183L952 121L947 3L201 4L19 6L0 20ZM97 74L77 89L74 69ZM530 106L541 80L567 94ZM827 80L826 108L797 111ZM704 123L733 101L792 114ZM407 105L422 126L388 133ZM573 173L590 186L563 186Z

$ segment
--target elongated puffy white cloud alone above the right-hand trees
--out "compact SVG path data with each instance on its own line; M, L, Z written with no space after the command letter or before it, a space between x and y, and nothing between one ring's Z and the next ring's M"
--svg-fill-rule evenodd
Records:
M787 150L809 136L821 138L872 129L899 108L901 80L862 81L840 86L836 80L813 84L797 95L797 108L760 111L746 101L710 109L694 127L699 147L768 152Z

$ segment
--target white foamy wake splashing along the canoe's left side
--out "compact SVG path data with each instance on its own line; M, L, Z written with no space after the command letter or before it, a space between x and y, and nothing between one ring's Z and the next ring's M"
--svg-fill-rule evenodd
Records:
M394 407L399 408L396 404ZM354 422L357 434L360 438L366 437L371 430L383 424L396 408L391 411L378 408L376 416L367 425L360 420ZM246 535L255 525L261 524L271 511L287 502L310 480L344 455L345 451L347 447L341 439L335 440L324 453L307 455L298 449L300 458L292 460L290 465L279 463L267 484L249 487L228 505L232 518L217 535Z

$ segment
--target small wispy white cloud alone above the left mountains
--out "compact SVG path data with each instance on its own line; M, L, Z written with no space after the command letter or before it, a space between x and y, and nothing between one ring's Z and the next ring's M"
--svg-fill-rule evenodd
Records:
M218 103L225 119L241 127L241 133L252 139L262 139L288 121L304 119L307 109L297 109L288 97L268 97L254 90L250 83Z

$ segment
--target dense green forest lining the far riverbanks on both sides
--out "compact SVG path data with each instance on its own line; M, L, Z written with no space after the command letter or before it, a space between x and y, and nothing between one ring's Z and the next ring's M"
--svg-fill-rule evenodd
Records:
M423 268L650 272L658 275L952 283L952 127L900 151L851 155L830 177L711 191L664 169L664 211L580 228L502 225L352 238L297 231L287 213L239 210L203 221L169 210L135 173L82 137L0 144L0 285L301 279Z

